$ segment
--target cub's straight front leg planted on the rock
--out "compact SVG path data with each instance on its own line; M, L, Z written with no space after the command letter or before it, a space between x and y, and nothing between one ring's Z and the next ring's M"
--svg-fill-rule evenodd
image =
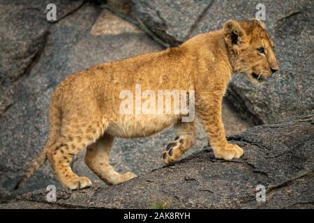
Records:
M222 96L213 95L203 98L197 103L197 113L199 114L204 130L207 132L209 144L214 150L217 159L232 160L243 155L243 149L234 144L228 144L225 139L225 128L221 118ZM214 95L215 97L215 95Z

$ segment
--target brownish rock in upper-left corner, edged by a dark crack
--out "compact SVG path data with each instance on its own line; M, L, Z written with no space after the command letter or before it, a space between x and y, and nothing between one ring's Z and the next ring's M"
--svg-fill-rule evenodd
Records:
M15 102L20 79L38 60L52 25L45 20L49 1L1 1L0 13L0 117ZM82 1L54 1L63 17L82 6Z

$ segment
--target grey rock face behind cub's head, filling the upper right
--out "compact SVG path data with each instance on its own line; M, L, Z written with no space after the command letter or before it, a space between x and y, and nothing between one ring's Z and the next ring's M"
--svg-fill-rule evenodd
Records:
M229 19L255 17L260 1L108 1L112 10L170 45L221 29ZM117 3L119 2L119 3ZM130 3L131 2L131 3ZM262 86L236 75L227 98L252 123L271 123L313 111L313 1L264 1L279 72ZM124 7L123 7L124 6ZM128 10L126 10L126 8Z

